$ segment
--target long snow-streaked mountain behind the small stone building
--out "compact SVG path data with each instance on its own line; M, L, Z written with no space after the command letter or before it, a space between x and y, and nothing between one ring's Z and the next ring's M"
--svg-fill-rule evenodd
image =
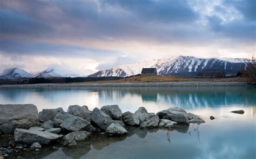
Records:
M163 57L133 64L122 64L111 69L101 70L89 77L118 76L127 77L140 74L142 68L157 68L159 75L165 74L191 74L198 71L225 71L237 73L245 68L245 59L203 59L194 56Z

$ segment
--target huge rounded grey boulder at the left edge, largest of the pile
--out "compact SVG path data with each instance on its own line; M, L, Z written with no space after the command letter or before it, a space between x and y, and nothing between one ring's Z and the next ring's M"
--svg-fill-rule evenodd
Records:
M0 104L0 131L14 133L15 128L29 128L38 122L37 107L33 104Z

